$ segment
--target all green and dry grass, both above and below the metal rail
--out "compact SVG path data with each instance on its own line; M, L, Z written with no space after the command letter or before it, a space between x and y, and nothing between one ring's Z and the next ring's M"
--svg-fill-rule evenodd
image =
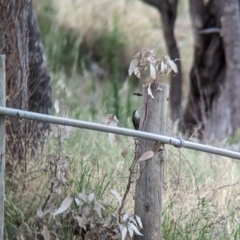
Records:
M140 91L141 83L125 79L126 66L137 44L149 47L157 43L159 52L165 54L158 12L135 0L77 0L67 4L64 0L52 0L35 1L34 5L60 115L103 123L107 114L114 113L123 126L132 127L131 111L139 108L141 101L132 93ZM187 8L185 2L180 4L176 23L185 97L192 60ZM103 78L92 71L92 61L103 70ZM54 159L67 162L69 168L68 184L62 187L60 195L53 192L48 202L52 212L66 196L74 198L80 192L94 192L96 199L109 202L105 220L110 213L116 213L118 206L111 189L120 196L124 194L134 156L133 139L117 136L111 148L107 134L73 129L69 138L58 141L51 137L45 141L44 151L34 158L28 156L27 172L6 176L5 239L44 239L43 226L47 226L53 239L54 234L59 239L81 239L80 228L72 217L77 214L76 205L72 204L71 211L55 219L50 214L42 219L37 217L37 210L51 191ZM131 151L123 158L121 152L129 144ZM238 162L188 149L167 149L163 239L239 239ZM125 212L133 211L133 197L134 187ZM90 211L96 217L93 209Z

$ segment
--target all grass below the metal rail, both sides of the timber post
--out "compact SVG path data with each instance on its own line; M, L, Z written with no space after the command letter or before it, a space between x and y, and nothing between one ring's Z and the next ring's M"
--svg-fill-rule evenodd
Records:
M110 209L117 208L110 194L115 189L122 196L126 186L132 151L126 158L123 148L131 138L118 137L110 147L107 134L72 130L61 142L61 158L69 163L69 186L60 196L54 194L55 209L67 196L94 192L98 199L108 199ZM59 154L58 141L50 140L44 154L29 162L29 170L14 179L6 178L6 239L17 236L41 239L45 224L53 229L54 219L40 220L37 209L49 193L49 161ZM168 146L165 164L162 234L164 239L239 239L239 164L237 161L191 150ZM40 160L41 159L41 160ZM36 164L37 163L37 164ZM133 211L134 188L128 196L125 211ZM48 218L47 218L48 219ZM59 216L59 239L74 239L74 228L66 216ZM66 231L67 230L67 231ZM63 233L66 234L63 234ZM30 238L31 239L31 238Z

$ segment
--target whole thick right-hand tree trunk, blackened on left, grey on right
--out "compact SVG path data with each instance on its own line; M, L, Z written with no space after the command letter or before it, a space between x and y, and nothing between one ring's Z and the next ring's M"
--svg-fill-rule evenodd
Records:
M230 1L231 10L227 11L229 3L226 2L210 0L204 4L190 0L195 49L184 127L190 133L199 129L200 137L206 139L224 139L240 126L236 92L239 89L236 73L240 66L239 3ZM227 26L224 26L226 18ZM229 23L236 28L230 28ZM238 55L233 61L234 51Z

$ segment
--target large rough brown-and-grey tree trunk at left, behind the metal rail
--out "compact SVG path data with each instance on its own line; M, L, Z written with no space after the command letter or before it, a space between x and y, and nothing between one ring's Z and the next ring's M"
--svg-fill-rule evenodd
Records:
M0 53L6 55L6 105L50 113L50 75L32 2L1 0L0 22ZM20 163L32 137L35 138L48 125L16 118L8 119L7 153L12 155L9 156L10 159L17 157L17 163ZM7 166L9 164L7 162Z

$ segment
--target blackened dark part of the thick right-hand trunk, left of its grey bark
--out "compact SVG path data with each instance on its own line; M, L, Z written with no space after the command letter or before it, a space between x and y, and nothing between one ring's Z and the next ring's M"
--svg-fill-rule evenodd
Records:
M190 131L190 134L198 129L201 138L205 134L208 135L205 136L208 138L211 133L214 133L214 135L220 132L226 134L228 126L225 123L229 120L227 116L228 118L230 116L226 114L228 103L225 98L223 99L223 96L227 97L227 94L223 93L225 91L223 42L220 31L217 31L220 30L220 14L214 1L209 1L208 4L204 5L202 0L190 0L190 15L195 46L194 61L190 72L190 94L184 115L184 127ZM212 32L207 32L211 29ZM224 109L219 107L220 102L225 102ZM212 110L214 114L212 114ZM226 121L223 119L224 115ZM221 131L218 131L215 127L218 119L223 123ZM211 127L213 128L211 129Z

